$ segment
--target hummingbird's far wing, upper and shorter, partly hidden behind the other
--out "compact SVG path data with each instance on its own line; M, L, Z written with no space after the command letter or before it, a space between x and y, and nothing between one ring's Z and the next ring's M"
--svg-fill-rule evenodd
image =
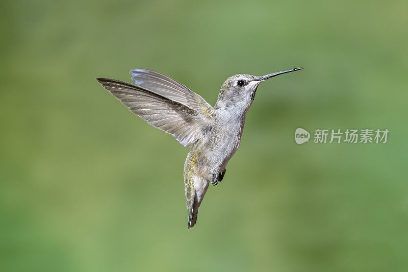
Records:
M213 107L204 98L191 91L183 84L163 75L147 70L133 69L130 71L136 86L160 94L170 100L179 102L202 114L213 117Z

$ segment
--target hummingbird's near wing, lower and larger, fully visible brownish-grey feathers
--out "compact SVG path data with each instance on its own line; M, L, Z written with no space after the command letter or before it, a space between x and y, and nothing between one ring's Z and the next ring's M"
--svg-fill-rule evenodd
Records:
M185 147L194 143L203 125L211 119L191 107L131 83L114 79L96 79L113 96L151 126L169 133Z

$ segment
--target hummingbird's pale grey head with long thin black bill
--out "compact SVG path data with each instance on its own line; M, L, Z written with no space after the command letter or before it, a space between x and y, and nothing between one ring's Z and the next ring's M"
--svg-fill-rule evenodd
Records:
M282 75L283 73L293 72L300 69L303 68L294 68L270 73L266 76L251 76L245 74L232 76L222 84L214 109L226 109L231 106L248 109L252 104L257 88L261 82Z

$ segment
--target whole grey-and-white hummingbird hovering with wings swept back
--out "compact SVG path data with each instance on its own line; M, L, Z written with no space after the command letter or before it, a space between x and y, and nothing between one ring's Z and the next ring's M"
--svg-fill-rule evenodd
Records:
M208 186L217 185L225 166L238 149L246 112L259 84L294 68L266 76L235 75L221 87L214 108L183 84L147 70L130 71L134 84L97 78L123 105L151 126L174 136L191 147L184 164L184 189L188 224L192 228Z

